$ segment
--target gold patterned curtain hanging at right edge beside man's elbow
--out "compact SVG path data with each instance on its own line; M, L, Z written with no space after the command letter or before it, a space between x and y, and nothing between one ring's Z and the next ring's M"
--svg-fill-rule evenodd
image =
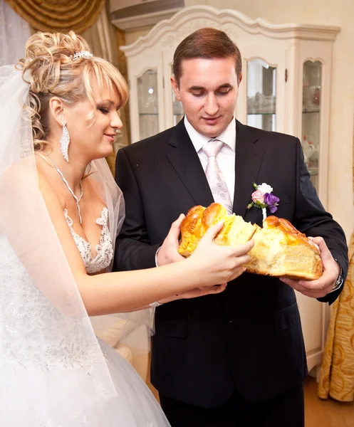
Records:
M343 402L354 399L354 233L348 277L330 316L318 396Z

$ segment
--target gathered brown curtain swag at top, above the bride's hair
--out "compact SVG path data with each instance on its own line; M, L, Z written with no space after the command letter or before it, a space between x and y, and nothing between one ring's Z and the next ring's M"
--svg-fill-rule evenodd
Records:
M12 9L40 31L83 33L93 26L105 0L6 0Z

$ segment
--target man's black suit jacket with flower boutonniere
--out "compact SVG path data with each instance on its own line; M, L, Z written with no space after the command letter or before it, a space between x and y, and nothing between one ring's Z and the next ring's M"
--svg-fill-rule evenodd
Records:
M261 225L261 210L246 206L252 183L266 182L280 199L276 215L308 236L323 236L346 275L343 230L318 200L299 140L236 121L235 163L234 212ZM126 218L115 269L153 267L172 221L213 202L183 120L121 149L116 171ZM321 300L331 303L338 295ZM277 278L244 273L219 295L157 307L155 330L152 384L189 404L219 406L235 387L246 401L270 399L301 384L307 373L296 296Z

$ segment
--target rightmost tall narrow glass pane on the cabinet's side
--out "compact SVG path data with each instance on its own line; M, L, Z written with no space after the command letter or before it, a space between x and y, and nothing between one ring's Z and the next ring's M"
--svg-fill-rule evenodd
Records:
M302 146L311 181L318 191L321 125L321 74L318 60L303 64Z

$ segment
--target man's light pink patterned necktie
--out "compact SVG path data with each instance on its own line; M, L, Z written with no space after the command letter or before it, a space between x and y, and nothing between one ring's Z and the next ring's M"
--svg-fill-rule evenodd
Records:
M232 203L229 190L227 189L227 183L224 180L219 164L217 164L217 154L222 149L223 145L224 142L219 141L219 139L211 139L207 144L204 144L202 151L208 156L208 164L207 169L205 169L205 174L207 176L210 189L212 190L214 201L224 205L227 212L232 214Z

